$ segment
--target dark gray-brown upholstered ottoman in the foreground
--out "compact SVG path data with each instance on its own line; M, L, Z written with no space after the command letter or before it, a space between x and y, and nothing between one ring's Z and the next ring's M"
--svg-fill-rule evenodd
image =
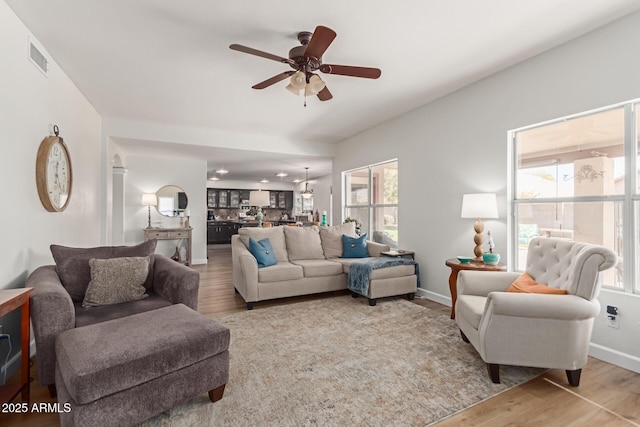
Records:
M209 393L229 378L229 329L182 304L71 329L56 338L61 426L123 426Z

